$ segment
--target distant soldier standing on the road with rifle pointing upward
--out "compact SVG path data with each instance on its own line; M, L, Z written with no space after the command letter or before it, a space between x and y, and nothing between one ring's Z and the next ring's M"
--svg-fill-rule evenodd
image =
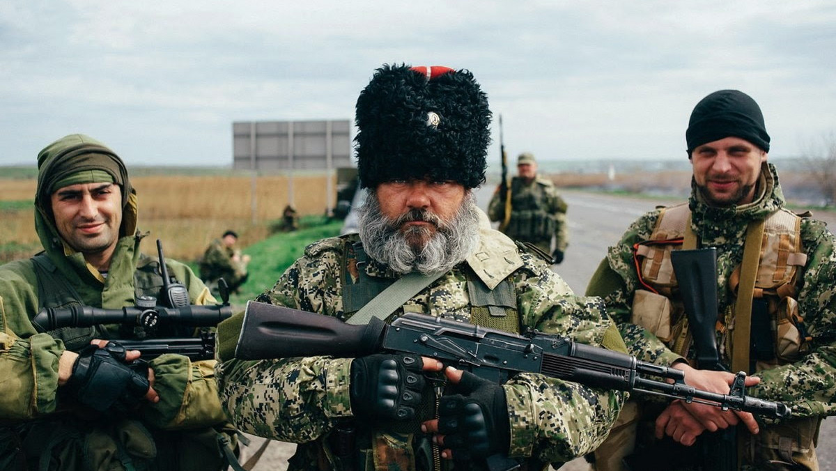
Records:
M514 240L533 243L550 253L554 264L559 264L569 243L566 202L552 181L538 177L533 154L523 152L517 157L517 173L511 181L511 218L507 226L500 224L499 230ZM491 221L504 221L505 198L506 194L497 187L487 207Z

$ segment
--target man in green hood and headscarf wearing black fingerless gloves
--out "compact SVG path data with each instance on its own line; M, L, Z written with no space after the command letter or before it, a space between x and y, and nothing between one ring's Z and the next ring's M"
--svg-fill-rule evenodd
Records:
M0 267L0 468L225 467L230 450L219 443L234 443L234 430L214 361L169 354L132 368L139 352L101 340L143 332L33 324L43 308L118 309L161 293L160 261L140 253L136 192L120 157L88 136L53 142L38 155L35 209L43 252ZM165 263L191 304L215 302L186 265Z

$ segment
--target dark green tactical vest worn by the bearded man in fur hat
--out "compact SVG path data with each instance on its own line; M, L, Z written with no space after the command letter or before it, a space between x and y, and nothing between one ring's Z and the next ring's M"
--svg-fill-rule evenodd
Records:
M346 251L341 279L343 309L350 317L393 284L395 279L375 278L366 274L367 257L361 243L347 244ZM488 289L469 267L465 268L465 277L471 306L470 322L482 327L519 333L521 325L517 313L517 294L512 282L506 278L496 288ZM417 424L436 417L436 402L436 397L425 397L416 412L416 417L420 418L409 424L377 423L375 430L370 431L364 430L362 424L357 424L352 420L337 427L329 438L325 438L322 442L324 447L319 448L320 453L323 453L320 458L329 462L329 465L320 466L320 468L370 471L380 469L380 467L375 467L375 463L392 461L402 465L401 468L410 468L412 463L415 463L417 469L431 469L434 460L432 445L426 435L421 433ZM352 438L347 440L346 437L349 435L352 435ZM356 444L345 453L341 453L339 452L340 443L345 442ZM388 454L385 458L375 457L375 451ZM342 454L345 458L341 458ZM401 463L404 460L405 462Z

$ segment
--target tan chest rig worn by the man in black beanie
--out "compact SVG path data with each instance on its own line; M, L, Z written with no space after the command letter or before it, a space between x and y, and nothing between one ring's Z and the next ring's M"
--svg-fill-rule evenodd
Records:
M752 274L750 372L797 361L809 351L809 340L812 339L804 328L803 318L798 315L796 300L797 282L807 262L800 227L801 218L783 210L773 212L763 221L759 254L755 252L757 272ZM747 245L757 242L756 237ZM670 263L672 250L694 248L689 245L696 246L696 237L691 233L688 205L684 203L663 208L650 239L634 247L641 286L634 298L633 320L657 335L672 351L693 358L689 355L691 335L688 320ZM745 265L748 268L738 264L727 274L728 299L737 300L738 294L749 295L739 293L742 270L752 269L751 264ZM720 277L722 279L724 274ZM665 299L660 299L662 297ZM721 294L721 299L723 297ZM740 305L738 302L737 306ZM717 345L726 361L733 351L735 306L734 303L727 303L726 308L721 307L721 312L717 314Z

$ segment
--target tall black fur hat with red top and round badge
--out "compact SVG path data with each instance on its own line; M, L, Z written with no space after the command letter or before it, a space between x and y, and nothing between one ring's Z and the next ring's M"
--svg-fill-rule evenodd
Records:
M490 125L487 95L469 71L384 64L357 99L360 185L430 178L478 187Z

